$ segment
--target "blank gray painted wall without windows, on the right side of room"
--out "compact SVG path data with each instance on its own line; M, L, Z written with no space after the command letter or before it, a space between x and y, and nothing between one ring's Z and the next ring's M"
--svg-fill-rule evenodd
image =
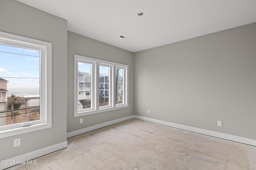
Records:
M256 139L256 23L134 53L134 72L135 115Z

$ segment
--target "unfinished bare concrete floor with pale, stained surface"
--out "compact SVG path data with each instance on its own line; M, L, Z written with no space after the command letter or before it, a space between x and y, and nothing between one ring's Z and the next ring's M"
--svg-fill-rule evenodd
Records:
M256 147L131 119L9 170L256 170Z

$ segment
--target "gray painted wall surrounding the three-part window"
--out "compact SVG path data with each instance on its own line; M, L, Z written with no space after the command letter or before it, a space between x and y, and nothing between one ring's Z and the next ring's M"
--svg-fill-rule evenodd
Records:
M129 107L74 117L74 54L129 65ZM133 53L68 31L67 132L133 115ZM80 123L83 118L84 123Z

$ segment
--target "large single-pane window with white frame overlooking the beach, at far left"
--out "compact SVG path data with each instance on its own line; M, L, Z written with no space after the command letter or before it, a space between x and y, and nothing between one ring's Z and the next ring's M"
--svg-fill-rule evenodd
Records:
M0 138L52 127L52 44L0 32Z

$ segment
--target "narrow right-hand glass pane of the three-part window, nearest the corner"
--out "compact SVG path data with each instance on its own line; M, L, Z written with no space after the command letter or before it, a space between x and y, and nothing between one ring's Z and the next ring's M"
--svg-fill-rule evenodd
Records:
M123 103L123 72L124 69L116 68L116 104Z

